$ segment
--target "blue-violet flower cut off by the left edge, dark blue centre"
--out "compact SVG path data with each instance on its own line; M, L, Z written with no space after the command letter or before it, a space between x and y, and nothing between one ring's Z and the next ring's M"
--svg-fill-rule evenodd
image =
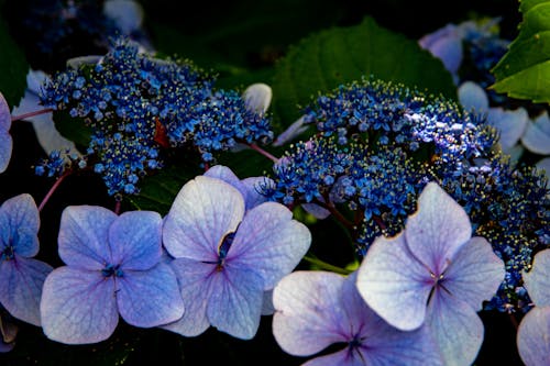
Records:
M38 252L38 209L22 193L0 207L0 304L16 319L41 325L42 285L52 266Z

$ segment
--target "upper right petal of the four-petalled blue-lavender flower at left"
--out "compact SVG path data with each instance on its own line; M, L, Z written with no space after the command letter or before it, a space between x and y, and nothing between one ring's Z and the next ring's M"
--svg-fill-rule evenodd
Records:
M153 211L122 213L109 228L112 264L122 270L145 270L158 263L162 255L163 219Z

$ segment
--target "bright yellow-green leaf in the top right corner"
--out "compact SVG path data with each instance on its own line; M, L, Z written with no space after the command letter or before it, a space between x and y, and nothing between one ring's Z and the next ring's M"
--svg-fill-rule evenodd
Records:
M519 34L492 69L497 92L539 103L550 102L550 1L521 1Z

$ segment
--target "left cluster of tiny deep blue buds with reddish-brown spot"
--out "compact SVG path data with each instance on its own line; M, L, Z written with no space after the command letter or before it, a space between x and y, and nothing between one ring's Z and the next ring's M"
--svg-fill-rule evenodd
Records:
M57 74L41 100L89 126L87 159L109 195L133 195L143 176L163 167L167 148L195 149L211 163L216 152L272 138L265 113L213 82L188 60L154 58L116 38L97 64Z

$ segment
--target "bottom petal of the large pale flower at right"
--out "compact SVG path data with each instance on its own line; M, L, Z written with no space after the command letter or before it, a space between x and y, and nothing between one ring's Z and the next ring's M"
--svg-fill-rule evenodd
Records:
M438 288L428 304L426 326L431 330L446 365L472 365L485 330L469 303Z

